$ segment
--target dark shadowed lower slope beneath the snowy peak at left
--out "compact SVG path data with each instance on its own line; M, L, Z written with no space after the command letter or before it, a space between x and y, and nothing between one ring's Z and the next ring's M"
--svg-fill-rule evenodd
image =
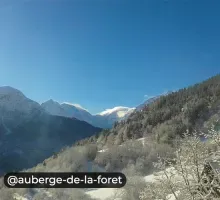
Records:
M36 115L1 137L0 169L11 171L32 167L63 147L100 131L77 119Z

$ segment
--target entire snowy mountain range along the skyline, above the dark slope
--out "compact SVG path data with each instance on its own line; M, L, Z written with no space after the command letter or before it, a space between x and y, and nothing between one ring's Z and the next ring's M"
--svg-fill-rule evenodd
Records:
M59 103L50 99L40 105L39 103L28 99L19 90L4 86L0 87L0 113L2 118L0 124L2 124L5 132L9 133L9 130L7 129L7 124L9 123L7 119L10 118L11 115L9 112L13 112L14 114L12 116L16 116L20 120L21 113L26 117L30 117L32 116L30 114L40 111L55 116L76 118L96 127L111 128L116 121L126 119L134 110L141 110L145 105L154 102L160 96L161 95L150 98L136 108L117 106L111 109L106 109L96 115L92 115L80 105L68 102ZM17 115L15 113L17 113ZM24 116L22 116L21 119L23 119Z

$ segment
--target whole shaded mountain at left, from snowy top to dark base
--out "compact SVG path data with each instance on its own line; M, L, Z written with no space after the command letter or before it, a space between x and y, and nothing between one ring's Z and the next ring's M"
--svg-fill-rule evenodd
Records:
M53 116L12 87L0 87L0 171L42 162L66 145L101 131L76 118Z

